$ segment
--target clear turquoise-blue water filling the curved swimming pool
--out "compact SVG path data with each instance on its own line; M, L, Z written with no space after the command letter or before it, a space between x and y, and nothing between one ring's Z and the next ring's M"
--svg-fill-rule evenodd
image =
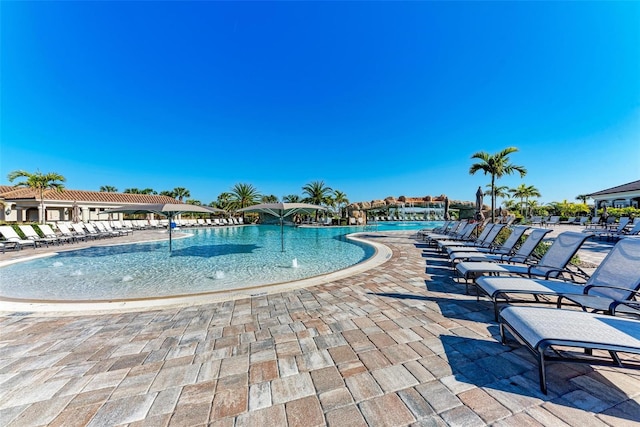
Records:
M171 253L168 242L161 241L80 249L9 265L0 269L0 295L133 299L289 282L341 270L372 256L370 246L348 241L346 234L411 230L425 224L285 227L284 252L278 226L190 229L193 237L174 239Z

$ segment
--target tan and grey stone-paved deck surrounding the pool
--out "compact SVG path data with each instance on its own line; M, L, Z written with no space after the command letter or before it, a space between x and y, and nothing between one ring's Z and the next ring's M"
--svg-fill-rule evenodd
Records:
M118 242L154 237L144 233ZM2 313L0 424L640 423L637 369L550 363L541 394L535 359L500 344L491 305L465 295L414 236L367 233L392 251L387 262L307 288L98 315ZM610 247L588 242L579 255L597 263Z

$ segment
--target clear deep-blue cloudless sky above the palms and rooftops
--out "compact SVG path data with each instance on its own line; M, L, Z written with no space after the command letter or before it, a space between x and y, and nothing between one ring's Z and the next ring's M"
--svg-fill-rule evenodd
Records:
M640 2L11 2L0 184L541 203L640 179Z

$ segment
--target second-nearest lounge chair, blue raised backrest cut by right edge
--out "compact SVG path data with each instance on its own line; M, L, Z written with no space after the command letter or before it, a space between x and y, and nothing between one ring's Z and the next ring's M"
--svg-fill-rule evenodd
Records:
M602 260L584 284L559 280L527 279L523 277L478 277L478 295L486 294L493 302L498 320L500 301L543 302L540 295L556 296L558 307L563 298L583 308L612 314L619 301L630 300L640 288L640 239L620 240ZM513 298L512 295L533 295L534 301Z

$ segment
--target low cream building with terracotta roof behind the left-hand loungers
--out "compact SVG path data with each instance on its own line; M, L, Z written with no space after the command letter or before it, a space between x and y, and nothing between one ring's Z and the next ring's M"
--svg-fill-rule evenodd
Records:
M106 220L109 215L105 210L137 203L177 202L168 196L50 189L44 191L44 218L47 222L71 221L76 209L78 220ZM0 204L0 221L38 222L40 195L31 188L0 185Z

